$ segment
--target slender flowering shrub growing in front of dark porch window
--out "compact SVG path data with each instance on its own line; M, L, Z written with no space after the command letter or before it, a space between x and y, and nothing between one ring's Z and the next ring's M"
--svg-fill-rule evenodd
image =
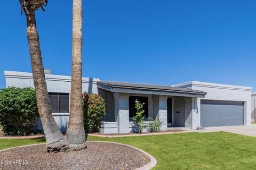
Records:
M143 111L143 105L145 105L144 103L140 103L140 101L138 101L137 99L135 100L135 109L137 109L136 115L133 116L133 122L135 124L135 126L137 126L139 133L142 133L143 129L146 128L145 124L144 124L144 118L145 116L143 116L143 113L145 111Z

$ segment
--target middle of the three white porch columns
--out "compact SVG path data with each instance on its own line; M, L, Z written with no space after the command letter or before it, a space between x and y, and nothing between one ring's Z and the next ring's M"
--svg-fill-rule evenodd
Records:
M167 96L153 96L154 118L163 122L161 130L167 130Z

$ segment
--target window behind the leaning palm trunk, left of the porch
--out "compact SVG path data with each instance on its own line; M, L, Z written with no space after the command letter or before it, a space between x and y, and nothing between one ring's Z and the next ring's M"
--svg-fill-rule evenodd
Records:
M49 92L52 113L69 113L69 94Z

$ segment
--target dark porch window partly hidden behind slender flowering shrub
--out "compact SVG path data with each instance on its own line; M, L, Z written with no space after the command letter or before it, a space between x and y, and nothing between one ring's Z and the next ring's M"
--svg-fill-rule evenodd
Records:
M129 117L133 117L136 115L137 110L135 109L135 100L140 101L141 103L145 103L143 105L144 116L148 117L148 97L139 97L139 96L130 96L129 97Z

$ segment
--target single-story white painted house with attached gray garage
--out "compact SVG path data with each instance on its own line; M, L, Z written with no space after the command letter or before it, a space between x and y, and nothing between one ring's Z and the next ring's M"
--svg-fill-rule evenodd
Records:
M34 87L31 73L5 71L6 87ZM71 77L45 74L53 116L65 132L69 117ZM83 78L83 91L106 101L102 133L129 133L135 99L145 103L145 123L153 117L169 127L197 129L251 124L251 87L190 81L174 86Z

